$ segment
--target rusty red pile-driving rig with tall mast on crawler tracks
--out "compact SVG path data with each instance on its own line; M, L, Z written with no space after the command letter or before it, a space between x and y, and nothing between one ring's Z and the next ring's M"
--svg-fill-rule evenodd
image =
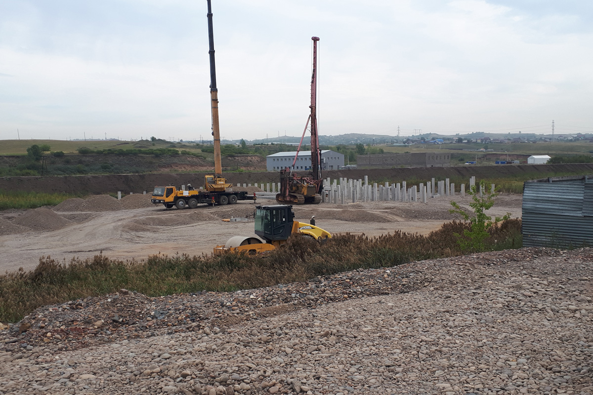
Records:
M292 166L280 170L280 192L276 194L276 201L285 204L319 204L323 193L323 179L321 179L321 150L319 149L319 134L317 132L317 41L313 40L313 72L311 74L311 113L305 124L295 159ZM311 173L307 176L294 174L295 162L301 150L302 139L307 127L311 125Z

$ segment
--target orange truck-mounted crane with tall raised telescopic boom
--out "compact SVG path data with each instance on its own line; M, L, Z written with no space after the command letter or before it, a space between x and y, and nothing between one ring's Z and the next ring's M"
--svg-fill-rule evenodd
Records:
M214 33L212 28L212 6L208 0L208 41L210 56L210 99L212 111L212 136L214 143L214 174L207 174L203 190L177 190L176 187L155 187L152 203L164 204L166 208L195 208L200 203L235 204L238 200L256 200L256 195L247 192L233 192L232 184L222 177L221 138L218 124L218 89L216 89L216 67L214 63Z

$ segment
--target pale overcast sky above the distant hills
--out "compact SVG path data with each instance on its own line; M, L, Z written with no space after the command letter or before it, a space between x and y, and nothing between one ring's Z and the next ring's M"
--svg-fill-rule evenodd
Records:
M206 0L0 0L0 139L211 139ZM221 136L593 131L589 0L212 0Z

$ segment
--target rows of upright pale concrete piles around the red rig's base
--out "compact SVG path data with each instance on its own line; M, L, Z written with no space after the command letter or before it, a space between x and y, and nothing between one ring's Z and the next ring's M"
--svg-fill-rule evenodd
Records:
M476 177L472 176L469 181L469 188L476 185ZM240 186L240 184L238 185ZM243 184L243 187L251 187L251 184ZM268 182L266 184L254 184L267 193L276 193L280 190L280 183ZM455 196L457 188L455 184L449 182L446 178L444 181L431 181L425 183L420 182L419 185L412 185L408 187L406 181L378 184L374 182L369 184L368 176L363 179L339 178L333 181L330 178L323 181L324 193L322 201L324 203L346 204L356 203L358 201L402 201L402 202L422 202L428 203L429 198L437 198L439 196ZM495 185L491 185L493 192ZM483 195L480 187L480 196ZM461 197L466 195L466 184L461 184L459 188Z

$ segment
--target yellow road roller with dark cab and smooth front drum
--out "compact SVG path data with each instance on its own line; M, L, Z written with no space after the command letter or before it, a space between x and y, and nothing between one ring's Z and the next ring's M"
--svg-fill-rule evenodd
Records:
M225 245L216 246L214 253L231 251L254 254L272 251L286 243L290 235L297 233L320 242L331 238L329 232L315 226L315 216L311 218L311 223L295 221L294 216L292 205L258 205L254 214L255 233L264 241L253 236L234 236Z

